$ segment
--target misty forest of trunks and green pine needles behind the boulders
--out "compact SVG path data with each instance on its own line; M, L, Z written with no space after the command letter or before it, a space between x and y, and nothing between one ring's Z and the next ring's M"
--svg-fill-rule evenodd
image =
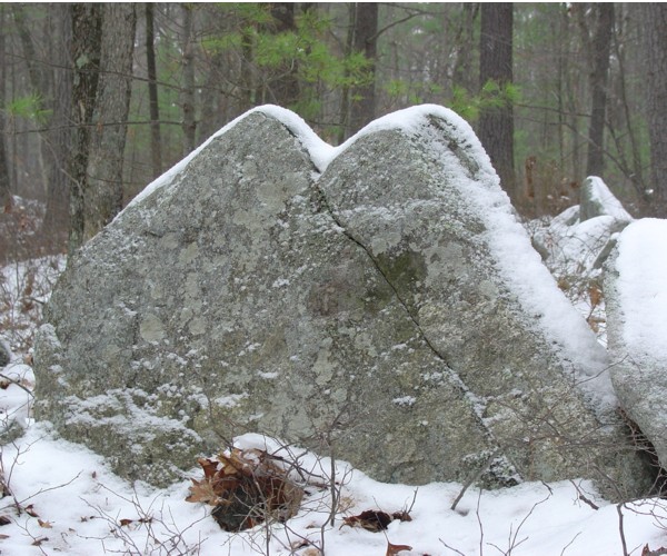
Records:
M265 103L331 145L442 105L521 216L597 175L665 217L666 30L665 3L0 4L0 260L71 252Z

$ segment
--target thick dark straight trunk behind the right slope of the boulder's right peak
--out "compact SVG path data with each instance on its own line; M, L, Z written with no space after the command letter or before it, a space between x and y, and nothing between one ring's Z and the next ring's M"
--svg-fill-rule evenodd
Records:
M512 4L482 3L479 44L480 88L494 81L502 90L512 81ZM500 95L502 95L500 92ZM502 188L517 201L514 171L514 110L509 101L486 108L479 118L479 140L500 177Z

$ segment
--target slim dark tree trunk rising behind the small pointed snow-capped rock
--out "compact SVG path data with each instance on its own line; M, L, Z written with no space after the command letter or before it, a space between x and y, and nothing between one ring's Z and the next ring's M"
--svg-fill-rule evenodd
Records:
M595 37L591 44L593 72L590 87L593 90L593 109L590 128L588 128L588 176L601 176L605 169L605 120L607 113L607 73L609 71L609 50L614 29L614 4L593 4L596 17Z

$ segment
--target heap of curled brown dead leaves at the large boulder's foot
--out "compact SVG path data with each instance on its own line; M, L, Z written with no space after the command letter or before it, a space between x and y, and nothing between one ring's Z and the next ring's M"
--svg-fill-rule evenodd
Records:
M299 510L303 488L263 450L233 448L198 461L203 479L191 479L186 500L213 506L211 514L225 530L249 529L268 517L286 522Z

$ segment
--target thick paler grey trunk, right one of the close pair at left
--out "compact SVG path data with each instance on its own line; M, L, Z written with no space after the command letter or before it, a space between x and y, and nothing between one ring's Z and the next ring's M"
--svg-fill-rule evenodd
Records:
M136 20L135 4L103 4L100 78L88 159L87 239L122 209L122 168Z

